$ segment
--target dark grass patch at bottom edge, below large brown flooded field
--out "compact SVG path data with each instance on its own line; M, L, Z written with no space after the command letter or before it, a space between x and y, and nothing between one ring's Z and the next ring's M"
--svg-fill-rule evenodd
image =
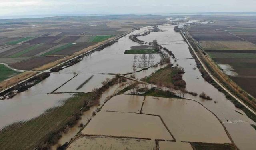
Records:
M233 144L209 144L209 143L191 143L195 150L236 150Z

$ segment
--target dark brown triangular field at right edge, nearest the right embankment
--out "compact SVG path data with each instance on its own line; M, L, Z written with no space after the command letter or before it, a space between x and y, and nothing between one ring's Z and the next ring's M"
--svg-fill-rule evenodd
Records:
M241 88L256 97L256 78L231 77Z

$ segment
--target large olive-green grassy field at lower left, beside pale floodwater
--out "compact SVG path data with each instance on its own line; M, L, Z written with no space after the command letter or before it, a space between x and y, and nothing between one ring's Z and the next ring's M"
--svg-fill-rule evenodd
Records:
M37 118L7 126L0 131L0 149L32 150L45 142L57 142L54 133L65 128L66 124L72 124L73 115L91 96L91 93L74 94L62 106L51 108Z

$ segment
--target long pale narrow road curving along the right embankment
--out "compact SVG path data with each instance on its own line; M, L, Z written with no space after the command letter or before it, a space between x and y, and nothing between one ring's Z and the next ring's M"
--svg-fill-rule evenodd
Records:
M184 28L183 28L184 29ZM182 29L182 30L183 30ZM222 84L210 73L210 71L206 68L206 66L204 65L204 63L202 62L202 60L198 57L198 55L196 54L196 51L194 50L194 48L191 46L190 42L188 42L188 39L186 38L186 36L183 34L182 30L180 31L180 33L182 34L182 36L186 39L188 46L193 50L194 54L196 55L196 58L199 60L200 64L202 65L202 67L204 68L204 70L209 74L209 76L223 89L225 90L228 94L230 94L233 98L235 98L238 102L240 102L240 104L242 104L244 107L246 107L248 110L250 110L250 112L252 112L254 115L256 115L256 112L254 112L254 110L252 110L250 107L248 107L246 104L244 104L244 102L242 102L242 100L238 99L236 96L234 96L234 94L232 94L231 92L229 92L228 89L226 89L224 86L222 86Z

